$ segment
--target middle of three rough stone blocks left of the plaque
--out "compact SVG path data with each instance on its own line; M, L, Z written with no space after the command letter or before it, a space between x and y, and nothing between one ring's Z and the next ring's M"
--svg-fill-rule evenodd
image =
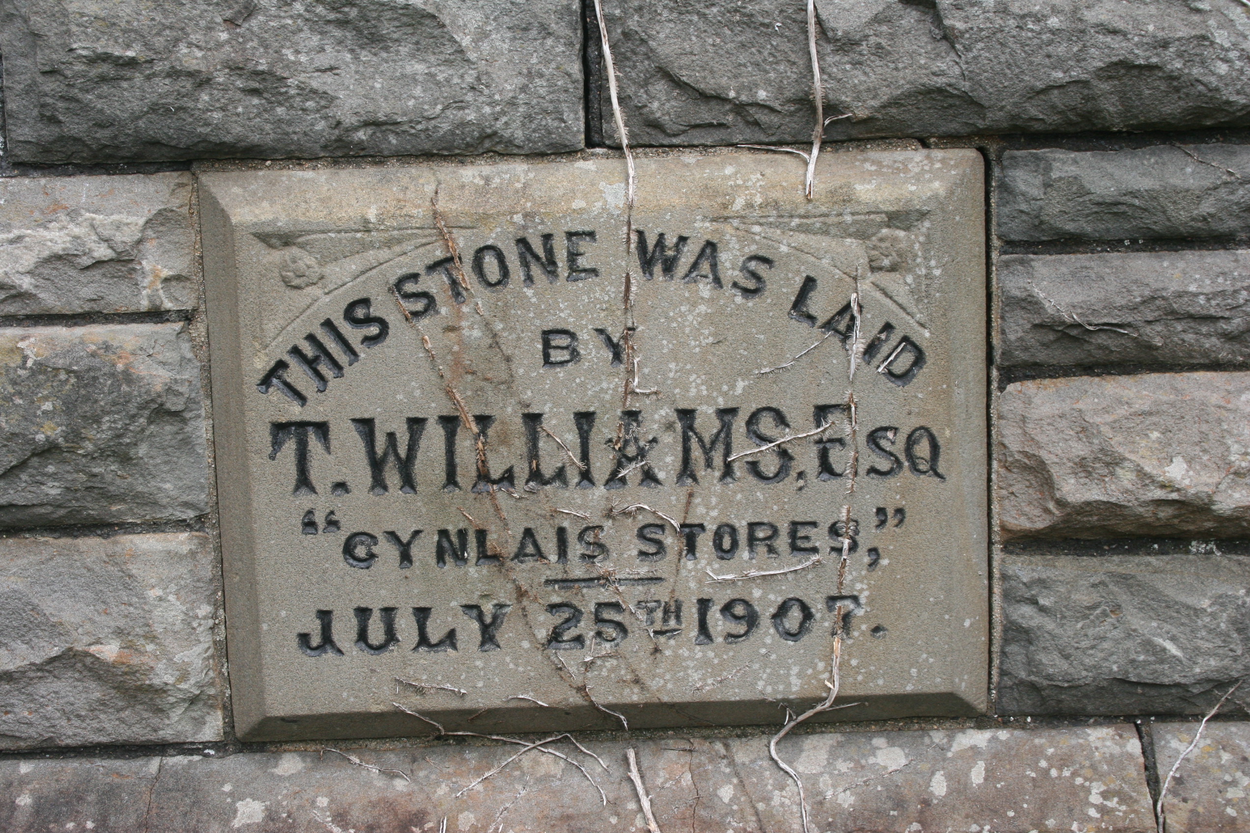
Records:
M0 330L0 527L208 511L200 368L182 330Z

